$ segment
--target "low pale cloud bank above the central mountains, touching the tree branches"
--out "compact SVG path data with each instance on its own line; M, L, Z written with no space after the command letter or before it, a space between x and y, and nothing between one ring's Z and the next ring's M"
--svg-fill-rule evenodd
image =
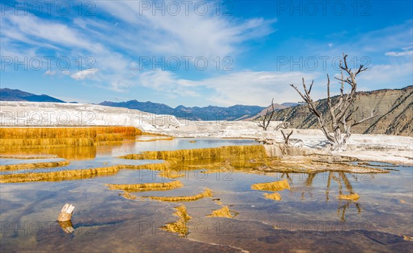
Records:
M324 87L325 80L318 73L305 74L303 72L235 72L206 78L202 80L178 79L171 72L145 72L140 76L140 85L162 91L163 96L173 95L184 98L186 96L200 96L198 89L208 89L212 95L204 96L213 104L258 104L267 106L271 98L277 102L296 102L299 95L290 87L291 83L301 86L301 78L310 82L315 80L316 87ZM324 92L312 92L314 99L324 96ZM170 96L169 96L170 97Z

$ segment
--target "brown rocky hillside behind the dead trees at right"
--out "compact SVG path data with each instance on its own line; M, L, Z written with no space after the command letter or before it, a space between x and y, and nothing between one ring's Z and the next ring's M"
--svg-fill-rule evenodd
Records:
M357 109L352 117L361 120L375 111L378 116L354 126L352 133L389 135L413 135L413 86L403 89L381 89L378 91L357 92L350 111ZM317 108L327 121L330 121L327 100L317 101ZM317 129L318 122L305 104L279 110L275 120L286 120L298 129Z

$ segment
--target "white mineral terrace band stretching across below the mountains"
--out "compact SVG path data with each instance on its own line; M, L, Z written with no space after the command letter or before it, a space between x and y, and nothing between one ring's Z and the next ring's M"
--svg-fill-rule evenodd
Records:
M65 104L53 102L0 102L1 126L136 126L142 131L176 137L246 137L268 138L282 142L279 122L271 122L262 131L256 122L246 121L191 121L173 115L156 115L138 110L106 107L97 104ZM294 131L291 142L304 148L324 148L326 137L314 129L286 129ZM301 140L301 141L299 141ZM346 151L332 154L360 159L412 164L413 137L395 135L353 134Z

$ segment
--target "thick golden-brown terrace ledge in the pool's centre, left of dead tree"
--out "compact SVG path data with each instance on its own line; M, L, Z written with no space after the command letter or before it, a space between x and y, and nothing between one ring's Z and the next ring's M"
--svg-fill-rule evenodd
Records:
M267 157L264 146L221 146L219 148L181 149L176 151L146 151L140 154L124 155L124 159L164 159L181 162L198 159L251 159Z

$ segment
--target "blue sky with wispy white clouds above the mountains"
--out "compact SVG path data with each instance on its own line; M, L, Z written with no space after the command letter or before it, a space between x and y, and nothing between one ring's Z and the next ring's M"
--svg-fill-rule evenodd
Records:
M0 36L1 88L65 101L324 98L342 52L359 90L413 83L412 1L1 1Z

